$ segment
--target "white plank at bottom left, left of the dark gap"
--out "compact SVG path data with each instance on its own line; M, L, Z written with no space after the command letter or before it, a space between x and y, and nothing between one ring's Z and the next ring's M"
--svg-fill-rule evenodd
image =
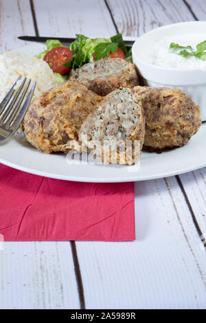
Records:
M67 242L4 243L0 309L79 309Z

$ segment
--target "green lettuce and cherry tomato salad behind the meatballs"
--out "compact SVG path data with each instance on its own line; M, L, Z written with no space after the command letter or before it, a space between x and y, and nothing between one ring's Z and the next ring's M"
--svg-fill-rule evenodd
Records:
M56 40L46 41L44 52L36 56L43 58L54 71L58 82L67 79L69 71L82 65L100 60L101 58L123 58L132 61L132 47L127 47L122 34L111 38L91 39L82 34L77 34L75 41L65 47Z

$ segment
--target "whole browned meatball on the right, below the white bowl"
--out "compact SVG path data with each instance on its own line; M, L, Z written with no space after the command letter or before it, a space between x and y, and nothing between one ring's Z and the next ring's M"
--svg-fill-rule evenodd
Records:
M144 146L181 147L200 128L199 107L180 89L135 87L134 91L146 117Z

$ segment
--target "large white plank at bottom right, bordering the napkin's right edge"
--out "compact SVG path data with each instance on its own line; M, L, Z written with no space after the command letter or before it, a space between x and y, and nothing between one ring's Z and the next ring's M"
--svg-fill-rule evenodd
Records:
M175 178L135 196L136 241L77 243L87 309L206 308L205 252Z

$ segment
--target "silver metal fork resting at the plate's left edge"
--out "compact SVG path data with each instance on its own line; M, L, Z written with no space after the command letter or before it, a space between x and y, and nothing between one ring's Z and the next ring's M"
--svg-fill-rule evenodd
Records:
M10 139L10 137L12 137L12 135L14 135L14 133L19 129L25 113L30 107L32 96L34 94L36 82L32 85L30 93L22 105L23 99L30 87L31 80L29 79L27 81L27 78L23 78L19 89L15 91L16 84L19 80L21 80L21 76L19 76L3 101L0 103L0 143ZM24 85L25 88L23 89Z

